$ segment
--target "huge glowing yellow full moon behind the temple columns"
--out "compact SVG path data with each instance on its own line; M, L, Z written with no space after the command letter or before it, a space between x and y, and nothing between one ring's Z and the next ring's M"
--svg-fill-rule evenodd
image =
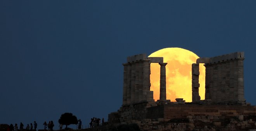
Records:
M193 63L199 57L186 49L164 48L157 50L149 57L164 57L166 65L166 99L175 101L175 98L183 98L186 102L192 101L192 69ZM160 90L160 65L151 63L150 65L150 91L154 91L154 99L159 99ZM205 67L199 64L199 96L204 99L205 94Z

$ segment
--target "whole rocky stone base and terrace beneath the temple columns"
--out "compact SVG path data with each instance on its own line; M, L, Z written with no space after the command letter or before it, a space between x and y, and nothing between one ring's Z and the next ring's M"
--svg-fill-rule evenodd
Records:
M236 131L256 129L256 106L141 103L121 107L119 123L137 123L142 131ZM109 116L109 123L113 123Z

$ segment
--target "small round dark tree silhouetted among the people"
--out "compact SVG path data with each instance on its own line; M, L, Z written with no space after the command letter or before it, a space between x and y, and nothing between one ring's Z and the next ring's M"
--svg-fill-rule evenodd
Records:
M66 125L67 128L67 126L70 124L78 124L78 121L76 116L74 116L72 113L64 113L59 119L59 124Z

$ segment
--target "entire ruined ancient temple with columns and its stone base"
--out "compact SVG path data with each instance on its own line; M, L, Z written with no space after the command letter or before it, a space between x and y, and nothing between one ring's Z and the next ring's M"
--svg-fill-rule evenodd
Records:
M123 105L109 114L104 129L123 123L136 123L142 131L256 129L256 106L244 99L244 52L197 59L191 67L192 102L166 100L167 63L163 59L145 54L127 58L123 64ZM150 63L160 66L160 97L156 102L150 91ZM199 63L206 67L205 87L199 84ZM201 100L199 88L205 88L205 100Z

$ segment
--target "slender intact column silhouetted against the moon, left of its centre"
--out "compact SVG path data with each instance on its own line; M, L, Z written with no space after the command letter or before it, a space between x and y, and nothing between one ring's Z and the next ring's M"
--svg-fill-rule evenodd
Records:
M166 74L165 66L167 63L159 63L160 67L160 100L166 100Z

